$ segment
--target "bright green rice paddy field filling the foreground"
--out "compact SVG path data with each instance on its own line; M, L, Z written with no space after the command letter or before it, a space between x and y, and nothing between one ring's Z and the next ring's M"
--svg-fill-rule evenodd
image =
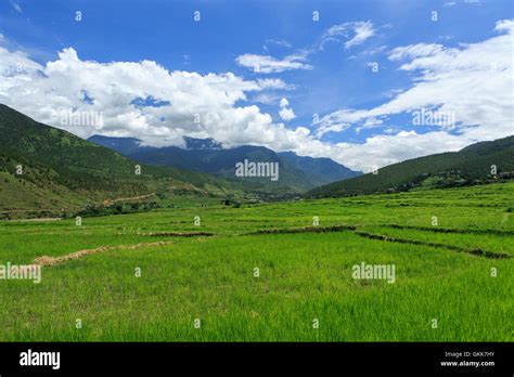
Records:
M513 198L510 182L2 221L0 264L42 272L0 280L0 341L513 341ZM355 278L361 263L394 283Z

